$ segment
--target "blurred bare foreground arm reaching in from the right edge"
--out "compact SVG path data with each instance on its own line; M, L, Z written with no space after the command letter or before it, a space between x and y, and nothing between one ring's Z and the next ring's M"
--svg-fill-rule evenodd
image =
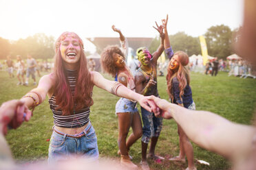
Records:
M240 125L207 111L188 110L164 99L151 96L164 119L175 119L187 136L209 151L230 160L250 153L256 128Z

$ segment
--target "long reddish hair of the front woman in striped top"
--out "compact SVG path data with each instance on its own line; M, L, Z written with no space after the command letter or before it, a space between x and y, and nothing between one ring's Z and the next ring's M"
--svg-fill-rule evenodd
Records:
M74 97L72 97L72 92L70 86L67 82L67 76L65 75L64 61L61 58L60 45L61 41L65 39L66 36L72 35L78 38L79 45L81 47L81 57L78 60L77 65L77 80L74 92ZM70 115L74 110L80 110L85 106L92 106L94 101L92 99L92 90L94 84L91 80L91 75L87 69L87 60L85 53L83 52L83 41L74 32L64 32L59 36L55 43L55 62L54 62L54 95L56 99L56 104L58 104L58 109L63 111L63 115ZM76 106L74 105L76 104Z

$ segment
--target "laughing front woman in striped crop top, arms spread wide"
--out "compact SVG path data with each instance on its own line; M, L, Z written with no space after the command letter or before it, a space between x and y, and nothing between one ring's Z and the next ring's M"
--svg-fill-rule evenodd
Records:
M64 32L55 43L54 73L44 75L37 88L32 89L21 101L25 107L41 104L49 97L54 127L50 140L48 162L65 160L70 154L98 158L97 137L89 121L89 107L94 104L94 86L109 93L136 100L149 108L148 99L134 93L118 82L106 80L100 73L88 71L83 52L83 41L74 32Z

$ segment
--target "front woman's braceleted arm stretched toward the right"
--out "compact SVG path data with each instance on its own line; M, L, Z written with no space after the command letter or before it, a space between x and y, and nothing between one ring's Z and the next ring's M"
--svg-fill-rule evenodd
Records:
M140 106L142 106L143 108L151 112L151 108L149 107L151 104L150 104L150 101L147 99L147 97L144 97L143 95L135 93L134 91L123 86L122 84L120 84L118 88L114 88L114 87L117 87L116 86L117 82L105 79L102 75L100 75L100 73L96 71L91 71L91 75L92 75L92 82L94 82L94 85L97 86L98 88L107 90L109 93L112 93L119 97L124 97L127 99L138 101Z

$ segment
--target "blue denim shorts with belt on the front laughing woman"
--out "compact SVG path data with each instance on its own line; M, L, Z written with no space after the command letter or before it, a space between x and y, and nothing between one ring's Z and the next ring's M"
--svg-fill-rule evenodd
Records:
M98 160L97 136L90 121L85 130L81 132L81 134L83 133L85 135L77 137L54 129L50 140L48 162L54 163L60 160L67 160L68 156L73 155Z

